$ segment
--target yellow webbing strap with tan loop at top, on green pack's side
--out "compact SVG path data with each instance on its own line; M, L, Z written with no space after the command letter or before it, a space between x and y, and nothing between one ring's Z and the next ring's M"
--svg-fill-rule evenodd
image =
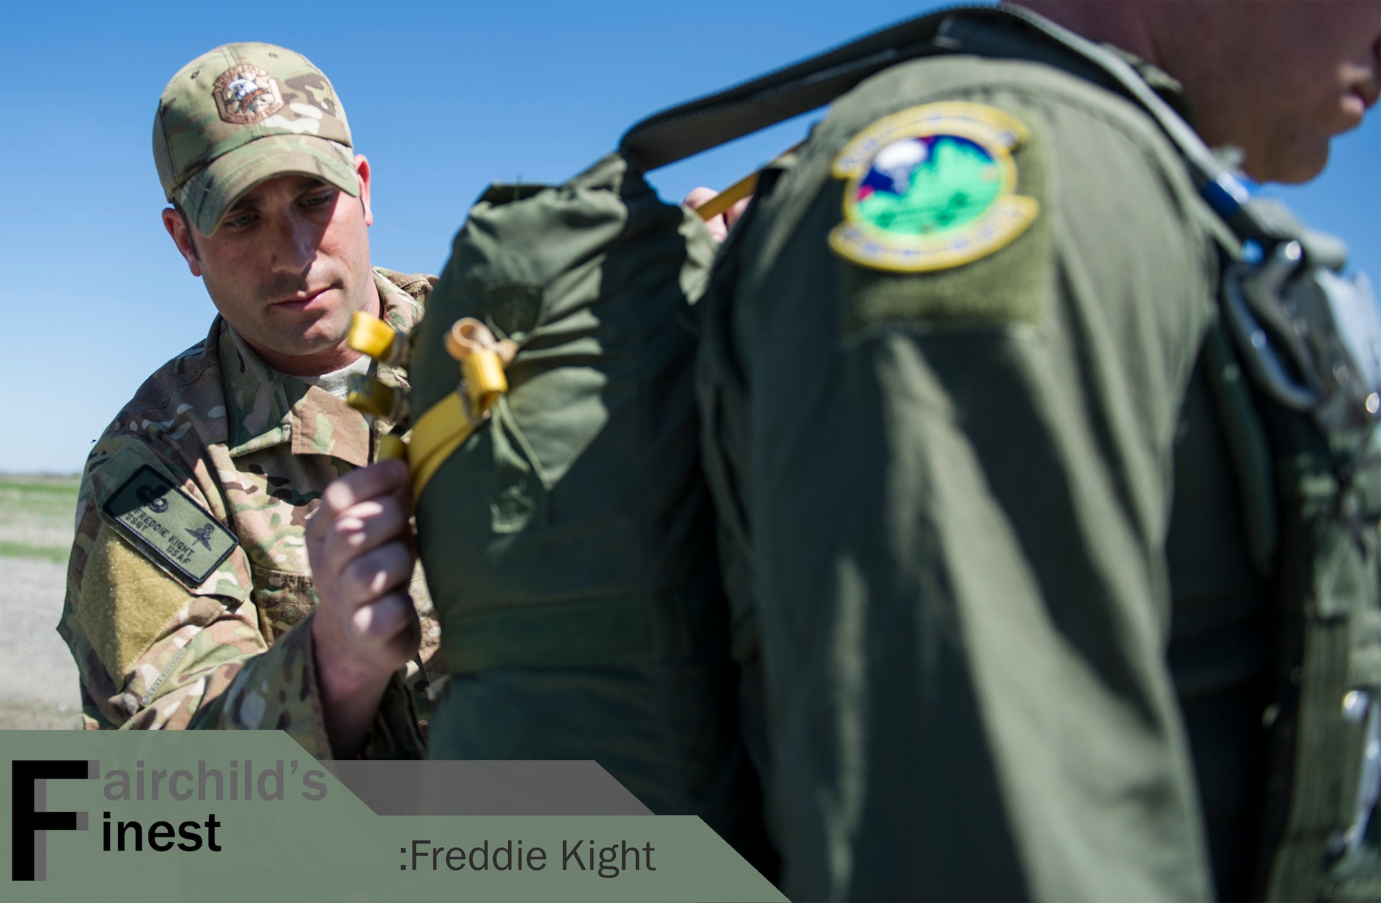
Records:
M504 365L512 360L518 345L496 341L483 323L467 316L450 327L446 351L460 360L463 380L460 388L428 407L413 424L407 445L413 498L421 497L441 465L485 423L490 409L508 391ZM461 389L465 398L460 396Z

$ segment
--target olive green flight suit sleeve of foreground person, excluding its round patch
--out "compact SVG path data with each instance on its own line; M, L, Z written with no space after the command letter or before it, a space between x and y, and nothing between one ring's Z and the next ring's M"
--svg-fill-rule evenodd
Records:
M892 279L914 301L860 322L855 272L826 247L830 164L882 116L950 99L1044 148L1039 307L950 316L1004 291L994 254ZM837 101L721 251L706 464L725 572L743 574L733 609L757 613L742 648L765 670L793 899L1213 895L1164 554L1211 320L1204 215L1126 102L956 57Z

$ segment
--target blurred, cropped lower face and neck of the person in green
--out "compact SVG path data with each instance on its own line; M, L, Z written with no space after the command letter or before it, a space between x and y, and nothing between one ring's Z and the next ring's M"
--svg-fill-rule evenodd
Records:
M1258 181L1313 178L1329 139L1377 102L1378 0L1184 3L1181 11L1177 30L1199 37L1185 43L1195 58L1171 72L1185 70L1204 138L1242 148Z

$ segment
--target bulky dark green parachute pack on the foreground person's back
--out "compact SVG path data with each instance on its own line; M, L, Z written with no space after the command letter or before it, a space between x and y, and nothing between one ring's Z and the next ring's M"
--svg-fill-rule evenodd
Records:
M413 410L456 387L456 319L519 351L493 418L417 504L453 671L429 748L595 759L761 863L692 387L714 250L617 155L471 211L416 333Z

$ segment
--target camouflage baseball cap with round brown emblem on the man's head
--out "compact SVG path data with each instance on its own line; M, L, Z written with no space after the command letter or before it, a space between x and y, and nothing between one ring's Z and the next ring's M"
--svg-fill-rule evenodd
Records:
M307 57L273 44L224 44L163 88L153 162L170 202L203 235L250 188L301 173L359 195L345 110Z

